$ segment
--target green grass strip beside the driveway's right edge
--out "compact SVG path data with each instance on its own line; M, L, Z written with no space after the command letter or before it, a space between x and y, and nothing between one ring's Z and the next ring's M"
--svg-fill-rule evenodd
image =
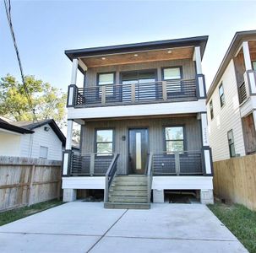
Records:
M215 203L208 207L250 253L256 253L256 212L239 204Z

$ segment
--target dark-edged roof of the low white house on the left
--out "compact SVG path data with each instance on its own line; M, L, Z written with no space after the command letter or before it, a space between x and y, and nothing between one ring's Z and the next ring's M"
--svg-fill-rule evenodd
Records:
M40 126L49 125L52 127L53 132L56 133L57 137L63 143L63 146L66 143L66 137L63 135L63 132L57 126L56 122L53 119L50 120L42 120L42 121L14 121L14 122L7 122L0 119L0 128L6 129L12 132L19 132L19 133L33 133L34 129Z

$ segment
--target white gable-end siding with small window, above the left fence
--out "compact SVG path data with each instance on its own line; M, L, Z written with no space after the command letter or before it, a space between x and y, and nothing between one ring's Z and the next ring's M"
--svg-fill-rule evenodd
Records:
M45 126L50 127L50 130L46 132ZM39 158L40 146L48 148L47 159L61 160L62 159L62 142L53 132L52 127L44 125L33 129L34 133L30 139L30 135L22 137L21 156ZM31 145L31 148L30 148Z

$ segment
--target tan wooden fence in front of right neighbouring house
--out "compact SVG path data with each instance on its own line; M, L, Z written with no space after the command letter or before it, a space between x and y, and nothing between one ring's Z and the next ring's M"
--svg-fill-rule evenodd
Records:
M214 163L215 196L256 211L256 154Z

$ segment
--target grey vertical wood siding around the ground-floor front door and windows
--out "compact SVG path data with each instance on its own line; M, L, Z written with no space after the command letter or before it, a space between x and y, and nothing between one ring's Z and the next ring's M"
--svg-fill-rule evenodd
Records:
M166 117L148 119L129 119L111 121L87 121L82 126L81 146L83 153L95 152L95 129L115 129L115 152L120 153L117 170L120 174L128 171L128 129L134 127L148 127L150 137L150 152L163 152L165 150L164 126L185 126L186 149L189 151L202 148L200 121L196 116ZM122 137L125 137L123 140Z

